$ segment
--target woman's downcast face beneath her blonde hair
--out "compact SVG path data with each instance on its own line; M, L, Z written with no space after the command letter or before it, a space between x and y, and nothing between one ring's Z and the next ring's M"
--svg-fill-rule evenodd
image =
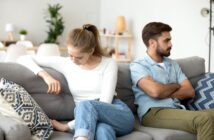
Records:
M81 49L73 47L72 45L68 46L68 55L71 60L77 65L84 65L88 62L92 52L81 52Z

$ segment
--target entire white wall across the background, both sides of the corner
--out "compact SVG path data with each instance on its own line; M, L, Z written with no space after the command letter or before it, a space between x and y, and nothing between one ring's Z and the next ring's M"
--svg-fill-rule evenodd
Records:
M93 23L99 28L114 30L116 17L124 15L127 29L134 36L135 58L145 54L146 48L141 39L143 26L150 21L161 21L173 28L171 58L197 55L205 58L207 65L209 17L202 17L200 10L209 8L209 0L0 0L0 40L6 38L5 24L13 23L16 39L19 39L19 29L26 28L29 40L35 45L42 43L47 36L44 16L48 3L63 6L61 13L65 31L60 37L61 45L64 45L66 35L74 27ZM211 62L214 72L212 63L214 61Z

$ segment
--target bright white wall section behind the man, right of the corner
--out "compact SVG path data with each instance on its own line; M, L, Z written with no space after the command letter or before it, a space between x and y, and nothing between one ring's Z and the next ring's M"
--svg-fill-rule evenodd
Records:
M112 30L116 17L124 15L134 35L134 57L139 58L146 50L141 39L144 25L165 22L173 28L171 58L197 55L205 58L207 65L209 17L201 16L203 7L209 8L209 0L101 0L100 27Z

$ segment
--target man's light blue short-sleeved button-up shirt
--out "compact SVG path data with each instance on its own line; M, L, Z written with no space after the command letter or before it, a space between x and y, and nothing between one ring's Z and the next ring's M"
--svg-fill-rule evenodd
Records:
M131 78L133 83L132 90L135 94L135 103L138 105L137 112L140 119L152 107L185 109L185 107L180 104L179 100L172 98L154 99L144 93L144 91L137 85L138 81L146 76L150 76L155 81L162 84L181 83L187 79L176 61L164 57L163 63L165 68L163 68L160 64L150 58L148 54L146 54L143 59L134 61L130 64Z

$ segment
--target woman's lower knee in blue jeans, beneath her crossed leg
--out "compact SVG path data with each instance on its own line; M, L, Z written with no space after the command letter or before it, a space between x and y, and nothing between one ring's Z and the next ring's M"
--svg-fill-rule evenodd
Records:
M96 127L96 139L100 140L103 138L116 139L114 129L105 123L98 123Z

